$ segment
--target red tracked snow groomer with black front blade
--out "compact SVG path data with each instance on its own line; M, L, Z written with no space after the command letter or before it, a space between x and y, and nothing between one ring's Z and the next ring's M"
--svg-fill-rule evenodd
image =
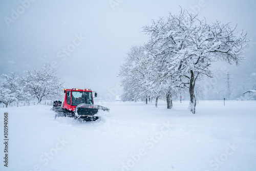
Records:
M101 105L95 105L91 89L64 89L65 100L54 101L52 110L57 112L56 116L68 116L81 118L86 121L95 121L99 118L98 110L110 111ZM97 97L95 92L94 97ZM56 118L55 116L55 118Z

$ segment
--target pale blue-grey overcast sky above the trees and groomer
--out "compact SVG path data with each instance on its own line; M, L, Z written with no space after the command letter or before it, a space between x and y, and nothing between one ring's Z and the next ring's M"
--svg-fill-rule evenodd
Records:
M256 80L256 2L223 1L1 1L0 74L23 73L52 63L66 88L90 88L98 94L115 94L125 53L142 45L148 36L142 27L152 19L177 14L180 7L199 12L207 22L238 24L252 39L241 67L230 72ZM215 65L216 68L223 64ZM242 79L241 78L241 79ZM112 91L112 92L111 92ZM119 94L118 92L117 94Z

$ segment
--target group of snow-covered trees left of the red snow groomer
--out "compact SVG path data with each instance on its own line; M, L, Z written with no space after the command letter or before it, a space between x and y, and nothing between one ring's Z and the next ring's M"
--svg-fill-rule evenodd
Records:
M0 103L59 98L63 81L57 77L56 69L49 64L39 69L27 70L25 74L3 74L0 83Z

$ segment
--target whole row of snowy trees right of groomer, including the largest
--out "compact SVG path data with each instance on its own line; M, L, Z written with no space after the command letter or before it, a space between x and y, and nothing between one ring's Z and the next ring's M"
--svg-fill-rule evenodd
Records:
M141 98L166 99L171 109L178 92L189 91L190 111L196 112L196 82L212 77L212 62L226 61L239 66L249 40L247 32L220 21L206 19L181 9L178 15L152 20L144 26L149 35L144 45L132 46L124 57L118 76L123 86L123 101ZM200 91L200 90L199 90Z

